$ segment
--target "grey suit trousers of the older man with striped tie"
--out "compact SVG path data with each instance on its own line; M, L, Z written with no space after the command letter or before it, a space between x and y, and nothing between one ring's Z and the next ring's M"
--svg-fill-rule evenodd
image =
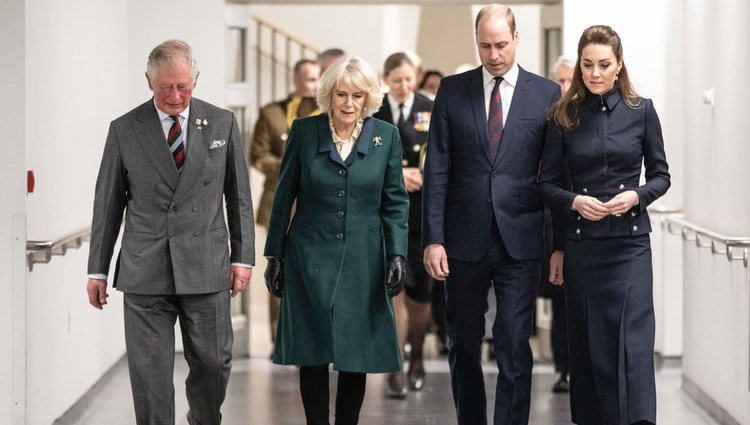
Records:
M202 295L124 294L125 344L138 425L174 425L174 326L180 320L190 372L191 425L221 423L232 363L229 291Z

